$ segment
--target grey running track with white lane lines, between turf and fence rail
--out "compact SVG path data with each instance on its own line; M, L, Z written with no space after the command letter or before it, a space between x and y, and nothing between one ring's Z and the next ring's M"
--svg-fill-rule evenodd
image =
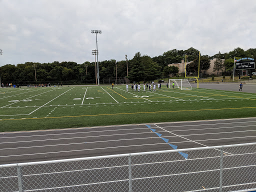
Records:
M0 164L172 149L155 133L179 149L256 142L256 117L0 133Z

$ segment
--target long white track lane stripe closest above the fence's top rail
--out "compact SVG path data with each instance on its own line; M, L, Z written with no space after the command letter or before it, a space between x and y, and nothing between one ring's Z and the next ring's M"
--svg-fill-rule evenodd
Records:
M158 136L157 136L158 137ZM243 137L231 137L231 138L245 138L245 137L255 137L255 136L243 136ZM195 140L195 141L207 141L207 140L219 140L219 139L231 139L231 138L216 138L216 139L205 139L205 140ZM194 141L178 141L172 143L183 143L183 142L194 142ZM84 142L83 142L84 143ZM247 143L247 142L246 142ZM85 143L84 143L85 144ZM147 145L158 145L166 144L165 142L161 143L150 143L150 144L136 144L136 145L124 145L124 146L111 146L111 147L100 147L100 148L88 148L88 149L78 149L78 150L64 150L64 151L54 151L54 152L41 152L41 153L30 153L30 154L13 154L13 155L4 155L0 157L9 157L9 156L22 156L22 155L38 155L38 154L50 154L50 153L63 153L63 152L75 152L75 151L85 151L85 150L98 150L98 149L107 149L107 148L120 148L120 147L134 147L134 146L147 146ZM216 149L217 150L217 149ZM228 153L228 152L225 152ZM228 153L231 154L231 153Z

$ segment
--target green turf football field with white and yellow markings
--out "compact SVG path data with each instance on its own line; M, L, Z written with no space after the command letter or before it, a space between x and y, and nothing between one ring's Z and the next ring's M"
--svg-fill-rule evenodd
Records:
M0 89L0 131L256 116L256 94L125 85Z

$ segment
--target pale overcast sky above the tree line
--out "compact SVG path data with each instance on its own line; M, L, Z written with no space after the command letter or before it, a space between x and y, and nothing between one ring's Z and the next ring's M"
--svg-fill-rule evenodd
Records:
M255 0L0 0L0 66L256 48Z

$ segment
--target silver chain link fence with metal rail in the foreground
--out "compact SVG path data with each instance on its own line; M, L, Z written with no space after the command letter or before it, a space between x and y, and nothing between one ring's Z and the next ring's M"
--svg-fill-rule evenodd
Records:
M256 142L0 165L0 191L253 191Z

